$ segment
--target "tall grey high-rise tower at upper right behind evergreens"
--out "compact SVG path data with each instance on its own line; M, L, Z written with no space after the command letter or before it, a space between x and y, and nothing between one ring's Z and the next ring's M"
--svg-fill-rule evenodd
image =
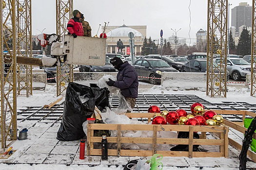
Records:
M249 6L247 2L239 3L239 6L234 7L231 11L231 26L236 27L236 35L242 25L252 27L252 6Z

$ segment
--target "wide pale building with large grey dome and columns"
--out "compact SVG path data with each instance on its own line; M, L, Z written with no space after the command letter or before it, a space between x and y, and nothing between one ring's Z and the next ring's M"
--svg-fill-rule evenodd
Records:
M102 27L103 31L103 27ZM107 53L118 53L117 42L119 39L123 42L123 55L130 55L130 44L128 34L134 34L135 55L139 55L147 32L147 26L108 26L107 34Z

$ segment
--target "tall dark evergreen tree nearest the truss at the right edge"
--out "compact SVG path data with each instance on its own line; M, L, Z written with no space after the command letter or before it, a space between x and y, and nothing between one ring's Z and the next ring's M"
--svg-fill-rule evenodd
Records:
M236 54L242 56L251 54L251 35L246 27L239 37Z

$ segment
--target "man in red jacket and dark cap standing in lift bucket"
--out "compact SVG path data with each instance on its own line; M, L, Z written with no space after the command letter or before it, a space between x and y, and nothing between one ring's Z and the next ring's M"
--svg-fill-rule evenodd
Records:
M73 16L74 17L68 21L68 34L73 35L74 38L77 36L83 36L83 26L81 20L79 19L81 17L81 13L79 10L74 10Z

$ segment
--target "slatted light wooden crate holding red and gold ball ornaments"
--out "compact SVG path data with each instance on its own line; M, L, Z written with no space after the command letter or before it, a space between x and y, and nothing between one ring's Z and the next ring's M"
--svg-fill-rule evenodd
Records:
M127 113L129 118L148 118L152 113ZM158 138L157 131L189 132L189 138ZM101 137L94 136L94 130L117 130L117 137L107 137L109 143L117 143L117 149L109 149L110 156L152 156L155 153L163 156L188 156L188 157L228 157L228 127L226 126L184 126L184 125L149 125L149 124L88 124L87 126L87 155L101 155L101 149L94 149L93 143L101 142ZM122 130L153 131L153 137L121 137ZM193 132L202 132L200 139L193 139ZM219 139L206 139L205 133L219 134ZM153 144L153 151L123 150L121 143L146 143ZM188 152L160 151L157 144L185 144L189 145ZM193 152L193 145L216 145L219 152Z

